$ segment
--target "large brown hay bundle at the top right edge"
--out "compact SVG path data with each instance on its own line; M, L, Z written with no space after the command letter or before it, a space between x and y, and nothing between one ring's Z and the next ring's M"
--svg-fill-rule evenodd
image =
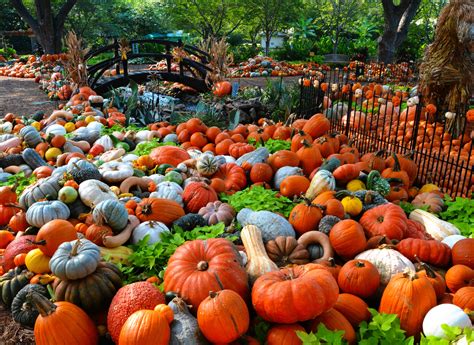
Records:
M435 40L427 48L420 66L420 84L425 100L456 113L471 97L474 62L471 57L474 2L451 0L441 11ZM459 133L464 118L448 120L448 128Z

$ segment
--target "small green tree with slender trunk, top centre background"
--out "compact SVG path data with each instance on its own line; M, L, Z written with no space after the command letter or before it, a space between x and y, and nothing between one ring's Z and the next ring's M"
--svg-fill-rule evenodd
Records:
M265 55L268 55L272 37L297 19L297 9L301 2L297 0L250 0L252 15L260 22L260 28L265 36Z

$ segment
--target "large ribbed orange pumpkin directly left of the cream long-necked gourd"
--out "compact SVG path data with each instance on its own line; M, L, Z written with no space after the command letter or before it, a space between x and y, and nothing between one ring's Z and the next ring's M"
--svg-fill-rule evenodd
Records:
M194 240L180 246L169 259L164 289L179 293L196 311L209 291L230 289L246 299L248 277L232 243L223 238Z

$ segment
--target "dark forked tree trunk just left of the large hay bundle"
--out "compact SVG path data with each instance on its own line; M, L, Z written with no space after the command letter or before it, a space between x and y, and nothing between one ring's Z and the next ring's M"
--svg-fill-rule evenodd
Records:
M379 38L379 61L393 62L395 53L408 35L408 27L420 7L421 0L382 0L384 31Z

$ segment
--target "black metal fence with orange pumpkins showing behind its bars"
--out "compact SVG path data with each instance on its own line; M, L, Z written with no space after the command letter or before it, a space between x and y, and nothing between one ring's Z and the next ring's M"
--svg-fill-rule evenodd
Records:
M418 165L417 185L433 182L451 196L471 196L469 104L460 104L455 112L438 104L425 106L421 95L409 94L415 82L411 72L390 86L381 85L382 78L357 82L347 72L302 78L300 117L324 113L332 130L352 139L361 155L378 150L410 155Z

